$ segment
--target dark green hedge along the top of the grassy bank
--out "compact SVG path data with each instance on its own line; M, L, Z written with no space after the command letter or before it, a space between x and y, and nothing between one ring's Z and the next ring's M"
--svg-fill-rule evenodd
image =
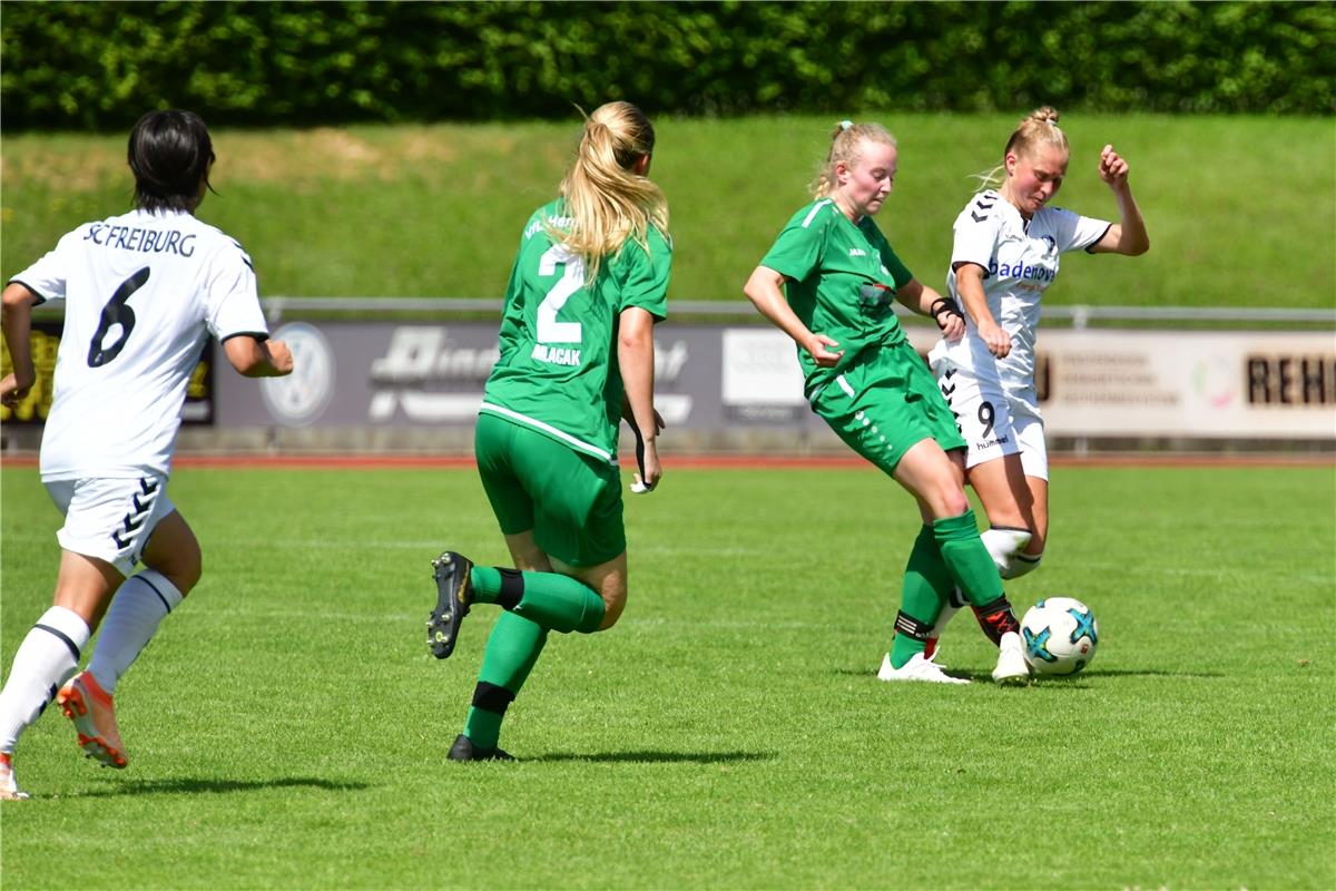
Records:
M651 112L1331 114L1327 3L15 3L0 123Z

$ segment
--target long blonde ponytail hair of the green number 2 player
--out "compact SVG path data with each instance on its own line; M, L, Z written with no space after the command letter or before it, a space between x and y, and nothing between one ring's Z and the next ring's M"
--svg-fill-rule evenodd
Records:
M585 119L558 190L570 228L552 235L584 260L589 281L599 275L603 258L620 251L628 238L648 252L651 226L668 234L668 199L632 170L653 150L655 128L629 102L609 102Z

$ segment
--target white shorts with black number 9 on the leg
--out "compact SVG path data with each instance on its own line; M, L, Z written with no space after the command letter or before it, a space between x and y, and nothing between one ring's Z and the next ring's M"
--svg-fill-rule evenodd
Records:
M1025 476L1047 480L1043 415L1033 387L1007 393L999 382L957 366L942 350L933 350L929 358L955 426L965 437L965 466L1019 453Z

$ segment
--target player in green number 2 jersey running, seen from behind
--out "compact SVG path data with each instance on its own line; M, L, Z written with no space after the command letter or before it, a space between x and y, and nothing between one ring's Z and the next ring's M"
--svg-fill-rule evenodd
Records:
M448 657L473 604L497 604L464 732L449 757L509 760L506 708L548 632L612 628L627 604L617 429L636 433L637 492L659 482L653 325L667 314L668 203L648 179L655 131L613 102L585 122L557 200L529 218L506 289L501 358L474 452L514 569L433 561L428 647Z

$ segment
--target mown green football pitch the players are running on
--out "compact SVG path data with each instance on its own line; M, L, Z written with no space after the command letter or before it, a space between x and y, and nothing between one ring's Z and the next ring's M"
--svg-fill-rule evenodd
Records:
M3 807L5 888L1331 888L1332 468L1053 477L1043 569L1090 669L987 683L973 620L890 685L908 498L870 469L675 470L628 501L632 594L554 636L516 764L450 764L492 608L445 663L428 561L504 546L472 470L184 466L204 580L118 692L131 763L49 709ZM3 668L59 514L3 472Z

